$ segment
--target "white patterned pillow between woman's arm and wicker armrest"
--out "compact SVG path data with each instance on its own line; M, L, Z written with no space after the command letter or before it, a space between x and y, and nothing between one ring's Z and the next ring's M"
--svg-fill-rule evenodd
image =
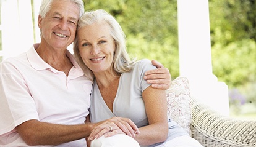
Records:
M191 134L190 123L192 114L190 110L190 89L189 81L186 77L177 77L171 82L171 86L166 90L168 102L168 116L177 124Z

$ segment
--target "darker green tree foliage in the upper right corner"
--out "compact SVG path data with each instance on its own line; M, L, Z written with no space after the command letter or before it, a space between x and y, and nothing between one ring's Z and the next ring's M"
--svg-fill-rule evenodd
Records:
M223 42L226 46L240 39L256 41L256 4L254 0L209 1L211 44ZM224 36L215 36L221 31ZM223 39L224 37L224 39Z

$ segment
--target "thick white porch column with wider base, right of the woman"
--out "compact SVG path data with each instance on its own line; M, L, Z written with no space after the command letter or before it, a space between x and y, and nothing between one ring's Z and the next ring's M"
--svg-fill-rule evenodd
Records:
M228 86L212 72L209 7L206 0L177 0L180 75L191 95L229 115Z

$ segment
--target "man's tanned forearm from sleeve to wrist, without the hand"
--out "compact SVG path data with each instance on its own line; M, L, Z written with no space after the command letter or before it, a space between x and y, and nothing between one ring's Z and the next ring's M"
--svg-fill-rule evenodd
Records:
M15 127L25 143L35 145L59 145L88 137L93 124L61 125L30 120Z

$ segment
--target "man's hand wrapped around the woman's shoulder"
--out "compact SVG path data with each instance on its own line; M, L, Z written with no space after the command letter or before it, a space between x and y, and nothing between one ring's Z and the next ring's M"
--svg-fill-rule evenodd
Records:
M149 84L152 84L151 86L153 88L169 89L171 85L169 69L164 68L164 66L156 60L152 60L152 65L156 66L157 69L145 72L144 79L147 80Z

